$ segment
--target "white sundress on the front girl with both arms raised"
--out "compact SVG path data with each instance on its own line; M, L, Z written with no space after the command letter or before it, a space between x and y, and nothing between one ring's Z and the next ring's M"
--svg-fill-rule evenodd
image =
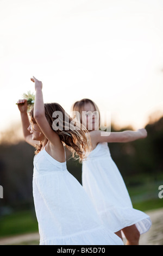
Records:
M123 245L104 228L66 162L53 159L46 148L34 157L33 196L40 245Z

